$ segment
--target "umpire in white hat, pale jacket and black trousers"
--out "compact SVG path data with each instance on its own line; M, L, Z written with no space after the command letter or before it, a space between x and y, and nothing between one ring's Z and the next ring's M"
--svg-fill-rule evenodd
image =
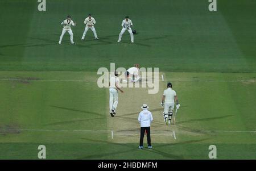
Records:
M147 134L147 145L149 149L152 148L151 146L151 139L150 139L150 123L153 120L152 114L148 111L148 106L143 104L141 107L143 110L139 113L139 123L141 123L141 139L139 140L139 149L143 149L143 138L146 131Z

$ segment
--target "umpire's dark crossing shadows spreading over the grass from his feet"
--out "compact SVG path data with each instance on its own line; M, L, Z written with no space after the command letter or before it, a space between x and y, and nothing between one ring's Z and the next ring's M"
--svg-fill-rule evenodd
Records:
M122 154L122 153L126 153L127 154L129 152L134 152L134 151L138 151L139 150L138 146L134 145L134 143L113 143L113 142L110 142L110 141L94 140L94 139L88 139L88 138L85 138L85 137L82 137L81 139L86 140L86 141L92 141L93 143L105 143L106 147L110 147L111 145L119 145L119 146L121 146L123 148L129 148L129 149L127 149L125 151L118 151L118 152L110 152L110 153L101 153L101 154L95 154L95 155L88 155L88 156L85 156L85 157L80 157L79 159L98 159L98 158L109 157L109 156L118 155L118 154ZM178 143L175 143L173 145L176 145L176 144L178 144ZM170 145L170 144L168 144L168 145ZM183 157L181 157L181 156L172 155L170 153L163 152L163 151L160 151L158 149L155 149L157 147L161 147L161 145L156 145L154 147L154 149L148 150L148 152L156 153L156 154L161 155L163 157L166 157L168 159L183 159Z

